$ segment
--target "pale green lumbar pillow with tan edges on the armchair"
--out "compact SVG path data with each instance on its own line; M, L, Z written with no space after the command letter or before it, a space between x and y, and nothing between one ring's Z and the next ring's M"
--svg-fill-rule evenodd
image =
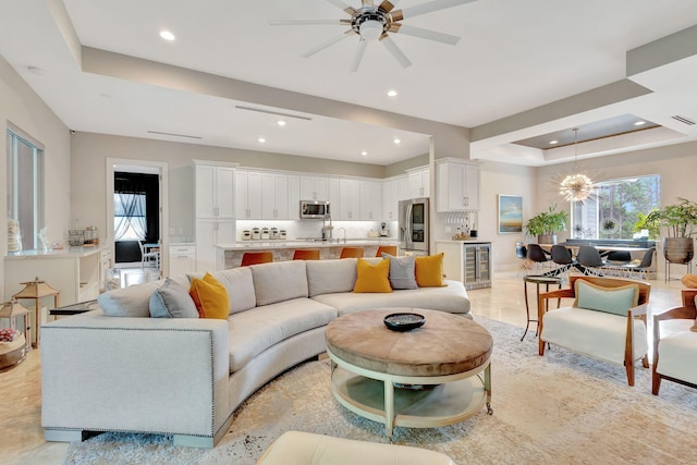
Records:
M639 286L636 284L607 287L576 280L574 287L576 301L573 306L578 308L625 316L639 303Z

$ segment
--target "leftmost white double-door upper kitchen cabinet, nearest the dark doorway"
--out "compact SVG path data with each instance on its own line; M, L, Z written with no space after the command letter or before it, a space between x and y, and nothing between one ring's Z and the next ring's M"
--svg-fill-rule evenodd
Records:
M194 161L196 218L235 217L233 166Z

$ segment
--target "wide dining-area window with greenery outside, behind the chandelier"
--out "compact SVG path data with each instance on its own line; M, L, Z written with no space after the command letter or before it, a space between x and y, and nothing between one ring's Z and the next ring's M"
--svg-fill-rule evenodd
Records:
M660 208L661 176L626 178L597 184L595 195L572 204L572 237L622 238L641 235L636 223Z

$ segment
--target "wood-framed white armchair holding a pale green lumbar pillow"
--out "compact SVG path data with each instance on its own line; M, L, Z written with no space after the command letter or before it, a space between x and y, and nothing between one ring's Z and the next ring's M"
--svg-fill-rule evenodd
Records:
M634 364L649 367L646 311L650 284L641 281L571 277L570 289L541 293L538 305L539 354L554 344L611 364L624 365L634 386ZM548 309L550 298L573 298Z

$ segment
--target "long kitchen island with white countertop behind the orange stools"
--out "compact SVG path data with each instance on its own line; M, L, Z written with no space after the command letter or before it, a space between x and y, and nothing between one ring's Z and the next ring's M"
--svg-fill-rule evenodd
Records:
M364 257L375 257L378 246L399 245L396 238L391 237L364 237L348 240L268 240L268 241L242 241L234 244L216 244L216 269L224 270L236 268L242 261L245 252L271 250L273 261L286 261L293 259L296 249L319 248L320 259L339 258L343 247L363 247Z

